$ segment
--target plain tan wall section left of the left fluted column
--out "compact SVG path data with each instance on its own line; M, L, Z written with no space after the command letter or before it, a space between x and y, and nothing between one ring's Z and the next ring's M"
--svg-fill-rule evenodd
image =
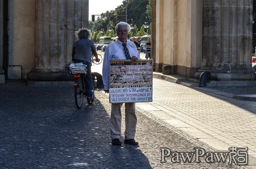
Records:
M21 79L22 70L25 79L35 66L35 0L9 2L8 78Z

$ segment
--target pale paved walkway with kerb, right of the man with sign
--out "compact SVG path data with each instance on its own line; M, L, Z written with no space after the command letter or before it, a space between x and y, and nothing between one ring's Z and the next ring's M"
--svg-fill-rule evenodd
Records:
M139 107L218 150L247 146L256 157L256 82L254 86L195 87L180 77L159 73L156 77L153 102L138 103Z

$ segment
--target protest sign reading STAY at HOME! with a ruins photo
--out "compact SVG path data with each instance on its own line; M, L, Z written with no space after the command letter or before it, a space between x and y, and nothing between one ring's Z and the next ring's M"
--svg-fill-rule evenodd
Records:
M152 102L153 60L112 60L109 102Z

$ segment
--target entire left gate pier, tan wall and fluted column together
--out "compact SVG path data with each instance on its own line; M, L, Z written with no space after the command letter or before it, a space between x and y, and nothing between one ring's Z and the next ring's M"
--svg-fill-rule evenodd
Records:
M40 80L40 73L64 73L71 63L75 31L88 27L88 0L10 0L9 56L3 55L3 12L0 14L0 80L4 60L9 79ZM0 9L4 11L3 1ZM9 66L10 65L10 66ZM49 74L53 75L53 74ZM56 77L58 75L53 75ZM50 76L48 76L50 77ZM6 78L6 77L5 77ZM42 79L42 78L41 78ZM54 80L49 79L49 80ZM0 82L4 83L4 82Z

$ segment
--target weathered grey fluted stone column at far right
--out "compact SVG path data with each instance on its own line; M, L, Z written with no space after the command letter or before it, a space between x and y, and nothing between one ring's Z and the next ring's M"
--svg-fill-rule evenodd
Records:
M252 1L204 0L202 67L212 80L252 80Z

